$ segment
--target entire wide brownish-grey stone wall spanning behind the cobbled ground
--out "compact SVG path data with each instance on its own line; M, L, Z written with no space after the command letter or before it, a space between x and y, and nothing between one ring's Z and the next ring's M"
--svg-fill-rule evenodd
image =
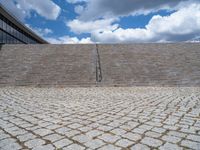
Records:
M3 45L7 85L200 86L200 44Z

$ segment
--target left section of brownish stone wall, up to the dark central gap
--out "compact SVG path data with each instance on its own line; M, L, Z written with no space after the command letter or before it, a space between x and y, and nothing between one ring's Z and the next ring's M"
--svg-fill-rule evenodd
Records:
M94 45L4 45L0 84L80 85L96 83Z

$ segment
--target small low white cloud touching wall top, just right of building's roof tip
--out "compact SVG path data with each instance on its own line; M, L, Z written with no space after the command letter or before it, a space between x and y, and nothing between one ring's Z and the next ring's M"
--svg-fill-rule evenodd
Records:
M51 44L87 44L93 43L89 37L78 39L77 37L63 36L59 38L46 38Z

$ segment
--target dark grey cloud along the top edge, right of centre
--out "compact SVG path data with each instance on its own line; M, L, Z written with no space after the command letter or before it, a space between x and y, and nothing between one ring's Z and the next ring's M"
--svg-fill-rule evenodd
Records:
M181 2L187 1L189 0L88 0L79 19L148 14L160 9L174 9Z

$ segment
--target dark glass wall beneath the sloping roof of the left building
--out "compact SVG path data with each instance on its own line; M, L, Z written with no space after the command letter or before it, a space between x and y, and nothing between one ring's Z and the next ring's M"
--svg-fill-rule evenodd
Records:
M0 14L0 44L36 44L33 37Z

